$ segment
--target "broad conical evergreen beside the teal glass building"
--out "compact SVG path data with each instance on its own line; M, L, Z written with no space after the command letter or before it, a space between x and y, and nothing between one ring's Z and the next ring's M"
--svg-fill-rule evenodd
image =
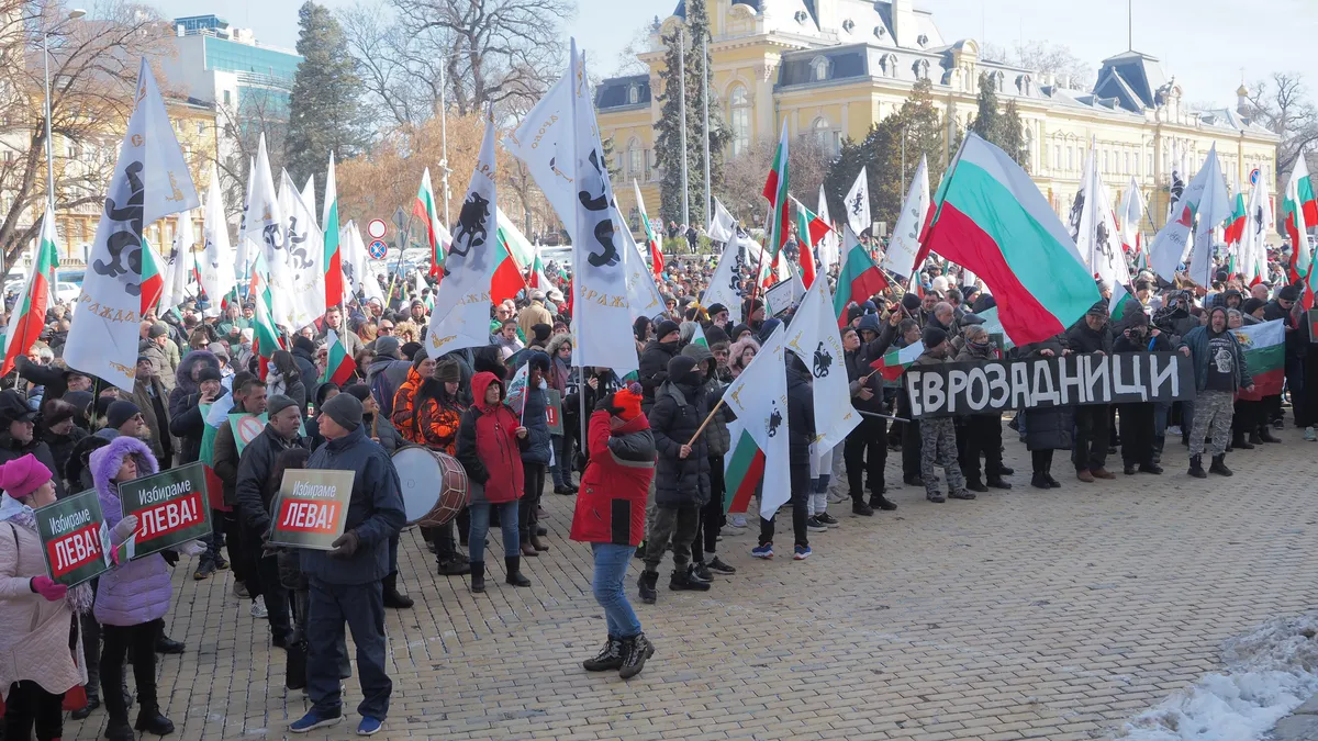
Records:
M369 119L358 98L357 63L339 21L328 8L308 0L298 11L298 26L302 63L289 96L286 166L298 187L316 175L319 199L330 153L339 161L360 154L368 141Z

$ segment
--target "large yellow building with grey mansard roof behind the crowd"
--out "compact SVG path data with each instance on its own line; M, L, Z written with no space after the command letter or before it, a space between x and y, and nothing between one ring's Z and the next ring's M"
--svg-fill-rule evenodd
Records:
M1240 113L1243 90L1236 109L1190 111L1176 76L1168 79L1156 58L1139 51L1103 59L1086 91L1065 78L983 59L974 40L944 41L933 15L912 0L708 0L708 8L710 94L731 132L729 158L758 138L776 138L784 120L792 136L816 137L837 153L844 137L863 138L871 124L902 107L917 79L928 78L938 109L952 112L942 150L928 154L946 161L953 125L963 131L973 120L979 75L988 73L1000 103L1015 100L1020 109L1029 171L1058 215L1079 189L1091 140L1114 203L1135 178L1148 203L1145 231L1162 225L1172 170L1189 181L1214 144L1232 187L1236 179L1248 183L1253 169L1265 182L1276 179L1278 137ZM622 182L642 183L651 218L660 179L654 165L664 70L659 37L684 17L679 1L652 29L651 49L639 55L647 75L606 79L596 95L601 134L613 138ZM700 163L691 166L695 173ZM631 212L633 190L618 187L617 195L622 211Z

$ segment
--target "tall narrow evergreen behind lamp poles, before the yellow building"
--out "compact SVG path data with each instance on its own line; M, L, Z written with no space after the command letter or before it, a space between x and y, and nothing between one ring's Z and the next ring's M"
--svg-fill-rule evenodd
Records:
M672 34L663 36L664 70L659 74L663 82L663 94L659 123L655 125L658 133L655 138L655 161L663 169L660 181L660 212L664 219L681 219L681 127L687 131L687 193L688 212L692 225L705 224L705 144L704 144L704 83L702 75L710 66L710 55L704 54L702 40L709 40L709 15L705 0L688 0L687 22L679 37L675 29ZM679 40L684 44L679 44ZM684 46L684 49L681 47ZM677 55L681 54L681 63L685 79L681 80L687 88L687 115L683 119L680 112L680 92L677 88ZM714 183L722 182L724 150L731 141L731 132L724 123L722 107L713 98L709 99L709 178ZM767 175L767 173L766 173Z

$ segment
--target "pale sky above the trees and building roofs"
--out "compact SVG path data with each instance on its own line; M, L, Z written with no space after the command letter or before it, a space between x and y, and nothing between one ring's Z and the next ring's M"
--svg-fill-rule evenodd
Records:
M344 8L357 0L322 1ZM171 16L217 12L236 26L254 29L266 44L291 47L302 0L154 3ZM1126 3L1120 0L916 0L916 5L934 11L948 42L973 37L1010 47L1017 40L1048 40L1069 46L1095 69L1104 57L1127 49ZM1249 82L1272 71L1313 69L1305 53L1318 37L1318 1L1257 0L1251 11L1239 0L1133 0L1133 5L1135 49L1159 57L1189 102L1234 104L1242 67ZM594 59L594 71L608 75L635 29L656 15L667 17L675 7L675 0L577 0L568 33ZM1242 34L1242 28L1255 30ZM564 55L565 49L567 34ZM1318 70L1309 76L1311 98L1318 99Z

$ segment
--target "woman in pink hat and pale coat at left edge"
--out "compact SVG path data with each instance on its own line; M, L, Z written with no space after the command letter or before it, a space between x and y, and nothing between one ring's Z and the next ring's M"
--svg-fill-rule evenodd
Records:
M0 489L4 737L32 738L36 726L37 741L50 741L63 736L65 692L87 682L74 616L91 609L92 593L87 584L70 589L46 576L33 508L55 501L50 469L32 454L17 458L0 465Z

